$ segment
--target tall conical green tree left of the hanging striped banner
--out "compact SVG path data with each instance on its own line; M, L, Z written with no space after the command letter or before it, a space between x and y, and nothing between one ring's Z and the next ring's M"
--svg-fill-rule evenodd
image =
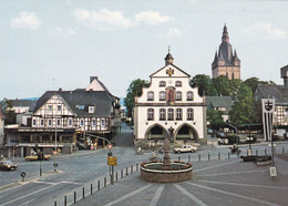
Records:
M244 83L238 91L229 115L232 123L235 125L250 124L256 121L253 91Z

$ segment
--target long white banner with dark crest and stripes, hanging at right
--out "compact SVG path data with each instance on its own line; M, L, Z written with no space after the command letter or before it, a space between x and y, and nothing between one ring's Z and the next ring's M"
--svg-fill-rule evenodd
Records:
M264 138L271 141L271 131L275 112L275 99L261 99Z

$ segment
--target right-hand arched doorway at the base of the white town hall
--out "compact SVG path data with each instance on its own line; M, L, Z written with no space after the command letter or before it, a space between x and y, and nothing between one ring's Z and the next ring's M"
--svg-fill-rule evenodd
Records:
M176 141L195 141L195 142L197 142L198 133L193 126L191 126L188 124L183 124L175 132L175 138L176 138Z

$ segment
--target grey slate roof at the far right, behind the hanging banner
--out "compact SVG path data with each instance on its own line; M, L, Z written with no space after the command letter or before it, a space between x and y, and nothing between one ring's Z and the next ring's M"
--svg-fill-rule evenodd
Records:
M288 89L284 85L268 85L258 84L255 91L255 95L260 99L275 99L276 104L288 105Z

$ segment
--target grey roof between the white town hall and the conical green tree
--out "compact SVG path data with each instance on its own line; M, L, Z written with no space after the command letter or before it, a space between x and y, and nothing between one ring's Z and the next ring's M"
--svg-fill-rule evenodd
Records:
M206 96L207 109L212 110L215 107L226 107L225 114L228 114L232 110L232 97L230 96Z

